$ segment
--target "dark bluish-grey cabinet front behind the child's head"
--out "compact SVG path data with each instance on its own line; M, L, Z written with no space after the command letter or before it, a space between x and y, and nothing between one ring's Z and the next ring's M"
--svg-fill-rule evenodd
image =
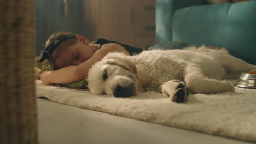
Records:
M36 51L44 50L53 33L69 31L84 34L82 0L36 0Z

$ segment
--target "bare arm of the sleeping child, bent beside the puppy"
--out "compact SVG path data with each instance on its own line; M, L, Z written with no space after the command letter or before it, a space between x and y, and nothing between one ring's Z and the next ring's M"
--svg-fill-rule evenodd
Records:
M42 73L41 81L44 85L51 83L66 84L85 79L88 75L88 70L94 65L95 62L101 59L109 52L123 52L129 55L129 52L121 45L116 43L104 44L100 50L97 50L91 58L86 60L80 65L72 65L54 71L47 71Z

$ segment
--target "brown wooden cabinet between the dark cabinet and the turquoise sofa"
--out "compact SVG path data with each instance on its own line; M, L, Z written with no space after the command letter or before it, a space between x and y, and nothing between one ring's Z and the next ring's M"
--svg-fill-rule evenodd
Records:
M147 49L155 44L156 0L85 0L85 37Z

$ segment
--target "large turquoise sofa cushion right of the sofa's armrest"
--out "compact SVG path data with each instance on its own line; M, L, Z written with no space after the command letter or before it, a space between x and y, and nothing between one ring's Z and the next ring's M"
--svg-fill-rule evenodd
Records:
M173 41L226 47L231 55L256 64L256 1L200 5L173 16Z

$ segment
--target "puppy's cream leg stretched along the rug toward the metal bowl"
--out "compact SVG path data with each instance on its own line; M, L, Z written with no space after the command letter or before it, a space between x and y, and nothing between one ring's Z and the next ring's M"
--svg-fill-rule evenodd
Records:
M195 93L235 92L230 82L210 79L194 64L187 65L183 71L183 78L187 87Z

